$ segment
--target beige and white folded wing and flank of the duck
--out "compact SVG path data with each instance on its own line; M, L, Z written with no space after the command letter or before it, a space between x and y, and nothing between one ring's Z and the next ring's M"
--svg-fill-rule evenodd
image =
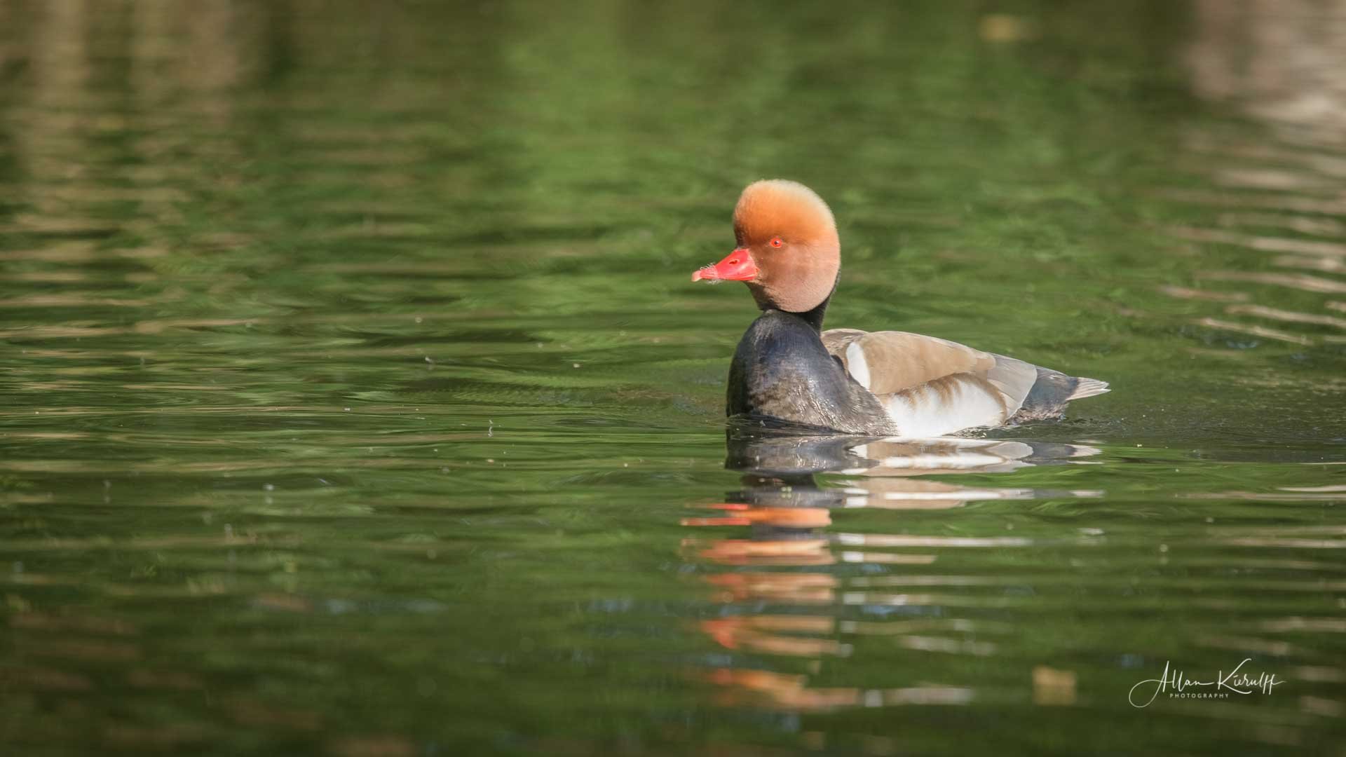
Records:
M907 331L832 329L822 343L903 436L1000 426L1038 381L1032 364Z

